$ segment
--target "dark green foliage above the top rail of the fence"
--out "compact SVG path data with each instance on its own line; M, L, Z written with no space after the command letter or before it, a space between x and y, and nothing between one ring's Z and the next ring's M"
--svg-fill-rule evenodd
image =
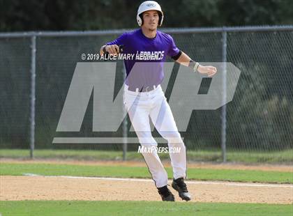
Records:
M142 1L1 0L0 31L64 31L137 27ZM292 24L290 0L162 0L164 27Z

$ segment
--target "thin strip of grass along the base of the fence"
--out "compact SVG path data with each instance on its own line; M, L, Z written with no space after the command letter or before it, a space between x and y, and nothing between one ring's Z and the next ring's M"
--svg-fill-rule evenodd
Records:
M0 157L28 158L28 150L0 149ZM95 150L35 150L34 157L39 159L75 159L75 160L122 160L121 151L95 151ZM160 154L161 159L168 159L169 155ZM189 161L221 162L220 151L188 151ZM142 155L137 152L128 152L128 160L142 160ZM244 163L293 163L293 149L276 152L247 152L227 151L227 162Z

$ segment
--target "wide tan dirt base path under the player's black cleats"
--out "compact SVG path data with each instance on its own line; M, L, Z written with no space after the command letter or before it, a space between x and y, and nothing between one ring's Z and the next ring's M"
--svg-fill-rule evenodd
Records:
M293 203L293 185L188 181L193 202ZM160 201L150 179L0 176L0 200ZM172 192L175 191L172 190ZM176 194L176 201L180 201Z

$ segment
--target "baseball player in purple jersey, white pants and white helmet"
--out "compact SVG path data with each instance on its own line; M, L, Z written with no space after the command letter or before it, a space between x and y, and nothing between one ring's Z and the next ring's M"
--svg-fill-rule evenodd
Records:
M144 1L137 10L137 23L140 29L123 33L119 38L100 48L100 54L117 55L123 45L123 54L132 56L124 59L126 81L123 102L135 129L140 145L147 149L157 146L151 136L149 118L160 135L167 139L168 147L179 148L170 151L174 179L172 187L179 192L181 199L189 201L190 193L184 183L186 178L186 147L176 127L170 106L160 86L163 81L163 62L166 56L209 77L216 73L213 66L200 65L176 47L172 36L158 31L163 23L163 11L156 1ZM153 149L153 148L151 148ZM163 201L174 201L174 195L167 188L167 172L156 151L142 152L158 193Z

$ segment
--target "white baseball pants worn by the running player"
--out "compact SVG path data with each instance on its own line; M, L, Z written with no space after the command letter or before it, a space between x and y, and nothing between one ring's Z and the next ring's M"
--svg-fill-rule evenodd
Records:
M170 106L160 85L149 92L129 91L124 86L124 105L128 116L137 134L141 146L150 148L158 146L151 135L149 117L160 135L167 139L168 148L179 148L180 152L170 151L171 165L174 178L186 178L186 147L176 127ZM167 185L167 172L165 171L160 157L156 151L142 153L156 187Z

